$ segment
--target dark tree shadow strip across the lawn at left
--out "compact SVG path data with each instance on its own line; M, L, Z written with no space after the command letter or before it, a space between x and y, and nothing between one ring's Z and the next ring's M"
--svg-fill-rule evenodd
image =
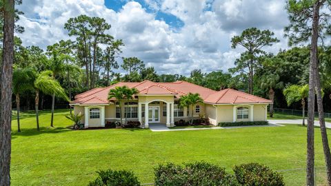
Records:
M23 128L21 132L12 132L12 138L16 138L17 136L36 136L39 134L59 134L70 131L72 131L70 127L40 127L40 131L38 131L37 128Z

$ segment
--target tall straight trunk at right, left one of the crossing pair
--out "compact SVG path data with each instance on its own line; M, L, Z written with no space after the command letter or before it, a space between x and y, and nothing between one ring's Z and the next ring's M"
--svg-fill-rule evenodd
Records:
M308 126L307 126L307 177L308 186L314 186L314 106L315 72L317 70L317 42L319 38L319 3L315 3L312 13L312 41L310 46Z

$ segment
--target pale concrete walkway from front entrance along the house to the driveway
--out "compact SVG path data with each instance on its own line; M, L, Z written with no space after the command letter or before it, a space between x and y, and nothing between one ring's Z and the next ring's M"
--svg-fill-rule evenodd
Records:
M169 132L169 131L185 131L185 130L226 130L226 129L239 129L244 127L279 127L277 123L270 123L270 125L254 125L254 126L235 126L235 127L201 127L201 128L184 128L184 129L170 129L165 124L150 123L149 127L152 132Z

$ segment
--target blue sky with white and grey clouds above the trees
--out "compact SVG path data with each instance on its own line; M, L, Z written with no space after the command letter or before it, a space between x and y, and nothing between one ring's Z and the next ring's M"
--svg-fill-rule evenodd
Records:
M241 48L230 40L245 28L269 29L281 42L266 48L288 48L283 28L288 24L283 0L24 0L19 21L26 32L23 45L47 45L70 39L63 28L70 17L103 17L110 34L123 39L122 56L137 56L158 74L189 74L234 66Z

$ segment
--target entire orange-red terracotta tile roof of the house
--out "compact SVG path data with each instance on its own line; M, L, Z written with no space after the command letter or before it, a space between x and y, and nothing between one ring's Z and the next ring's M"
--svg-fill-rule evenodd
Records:
M139 94L169 94L179 98L189 92L200 94L205 103L212 104L233 104L233 103L272 103L268 99L253 96L237 90L225 89L219 92L201 87L186 81L176 81L172 83L154 83L152 81L143 82L119 82L109 87L98 87L75 96L72 104L108 104L108 92L115 87L126 85L135 87ZM115 99L112 99L115 100Z

